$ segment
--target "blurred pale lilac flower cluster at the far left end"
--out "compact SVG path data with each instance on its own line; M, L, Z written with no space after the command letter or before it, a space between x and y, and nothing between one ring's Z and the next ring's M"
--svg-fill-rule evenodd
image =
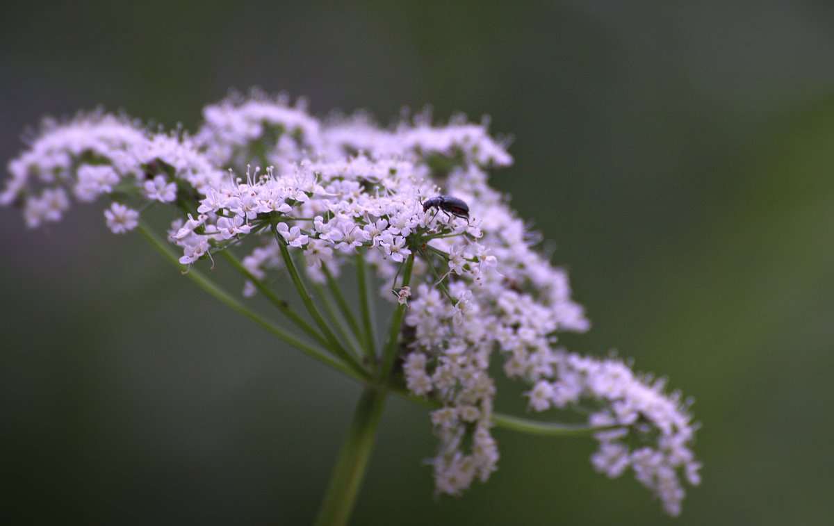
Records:
M0 205L20 203L31 228L62 218L68 193L83 203L103 194L117 201L140 196L173 203L178 183L204 192L224 177L190 138L148 133L138 123L106 113L67 123L46 121L8 170L12 178L0 193ZM136 228L137 211L117 204L105 213L108 227L113 233Z

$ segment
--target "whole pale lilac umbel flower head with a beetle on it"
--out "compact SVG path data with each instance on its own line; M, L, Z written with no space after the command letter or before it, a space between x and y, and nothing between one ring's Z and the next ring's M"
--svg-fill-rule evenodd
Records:
M372 268L393 313L387 338L351 308L344 330L313 301L305 305L318 328L288 315L354 376L430 403L437 493L459 494L498 466L497 362L528 386L531 411L587 414L596 470L631 470L680 513L682 480L699 483L701 467L688 403L619 359L556 347L560 332L590 323L565 271L536 249L540 236L490 187L489 173L512 158L486 121L439 125L421 114L381 128L364 113L319 120L259 93L233 95L203 117L193 135L107 113L44 123L9 163L0 203L21 206L34 228L58 221L71 197L106 198L113 233L137 228L139 210L174 208L168 241L180 263L248 247L238 267L247 296L273 297L269 277L289 273L303 298L307 280L344 301L341 269L355 267L364 283Z

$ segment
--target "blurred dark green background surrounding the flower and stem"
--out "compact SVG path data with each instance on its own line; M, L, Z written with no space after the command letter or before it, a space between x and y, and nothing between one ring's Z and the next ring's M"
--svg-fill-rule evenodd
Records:
M6 2L0 160L46 114L194 129L229 88L488 113L515 137L493 183L594 323L565 343L696 398L703 483L666 518L590 439L499 429L489 483L435 500L427 413L391 400L354 523L831 523L834 5L727 4ZM0 209L3 515L309 523L358 386L101 214L30 232Z

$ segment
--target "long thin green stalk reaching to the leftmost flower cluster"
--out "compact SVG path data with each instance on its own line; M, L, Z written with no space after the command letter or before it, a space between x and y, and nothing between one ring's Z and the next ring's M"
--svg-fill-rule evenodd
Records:
M172 263L174 267L178 268L180 272L183 272L185 268L182 264L179 263L179 258L175 253L173 253L166 243L163 242L162 239L158 238L156 234L154 234L150 228L146 227L144 223L140 223L138 226L138 231L141 233L148 242L153 245L153 248L156 248L159 253L161 253L165 259L168 260L168 263ZM188 272L185 273L189 279L191 279L194 283L202 288L207 293L217 298L220 303L224 303L227 307L231 308L237 313L242 314L245 318L249 318L250 320L257 323L262 328L266 329L269 333L272 333L274 336L279 338L284 343L289 343L294 348L298 348L301 352L306 353L312 358L319 360L319 362L325 363L330 367L338 370L340 373L344 373L348 375L350 378L354 378L359 382L366 382L369 379L368 373L364 371L360 374L355 372L353 369L347 367L344 363L339 362L339 360L334 359L333 357L329 356L326 353L323 353L317 348L309 345L309 343L305 343L304 341L296 338L293 334L288 333L284 330L284 328L280 328L279 326L275 325L274 323L269 322L266 318L260 316L258 313L254 313L243 303L240 303L238 300L233 298L229 293L224 291L222 288L219 288L216 284L214 284L211 280L203 276L195 268L188 269Z

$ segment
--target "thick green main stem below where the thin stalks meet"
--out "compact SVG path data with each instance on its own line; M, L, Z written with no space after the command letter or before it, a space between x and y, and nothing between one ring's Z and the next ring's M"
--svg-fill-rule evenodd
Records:
M333 474L330 475L327 493L316 518L317 526L341 526L348 523L374 447L379 418L385 407L385 395L383 389L370 385L362 391L348 428L348 436L344 439Z

